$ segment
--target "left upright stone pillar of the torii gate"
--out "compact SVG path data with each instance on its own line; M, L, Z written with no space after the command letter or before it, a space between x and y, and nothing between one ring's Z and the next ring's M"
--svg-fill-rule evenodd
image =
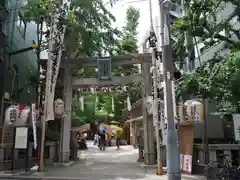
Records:
M64 70L64 108L65 114L61 124L60 162L69 162L70 157L70 131L72 113L72 71L69 64Z

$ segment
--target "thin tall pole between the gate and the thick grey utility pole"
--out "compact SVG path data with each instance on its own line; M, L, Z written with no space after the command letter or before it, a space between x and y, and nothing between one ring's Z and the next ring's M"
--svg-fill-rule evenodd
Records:
M161 163L160 135L159 135L159 112L158 112L158 73L157 73L157 37L153 28L152 0L149 0L150 9L150 35L149 44L152 50L152 78L153 78L153 123L155 125L156 148L157 148L157 175L163 175Z

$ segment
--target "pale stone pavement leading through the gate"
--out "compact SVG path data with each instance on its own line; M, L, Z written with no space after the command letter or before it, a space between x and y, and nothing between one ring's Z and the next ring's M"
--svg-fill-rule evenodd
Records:
M107 147L102 152L93 142L88 142L87 151L79 151L79 162L70 167L47 169L44 174L32 174L26 179L51 180L167 180L167 177L156 176L156 169L142 168L137 163L138 151L132 146ZM40 176L40 177L39 177ZM44 177L43 177L44 176ZM25 178L24 178L25 179ZM183 176L182 180L203 180L200 177Z

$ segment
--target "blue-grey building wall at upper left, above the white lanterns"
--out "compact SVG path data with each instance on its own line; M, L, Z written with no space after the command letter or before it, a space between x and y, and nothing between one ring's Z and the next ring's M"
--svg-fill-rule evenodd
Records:
M24 0L5 0L8 10L6 18L7 43L3 48L6 54L5 83L3 94L14 103L28 104L36 99L36 90L31 79L36 77L38 64L37 56L33 50L9 55L31 46L37 40L36 25L24 19Z

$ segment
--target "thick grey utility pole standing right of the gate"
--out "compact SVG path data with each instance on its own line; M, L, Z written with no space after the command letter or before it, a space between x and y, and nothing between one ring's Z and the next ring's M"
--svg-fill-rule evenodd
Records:
M167 167L168 180L181 180L180 153L178 143L178 132L174 120L173 107L173 59L172 47L170 43L170 0L159 1L161 14L161 48L163 61L163 76L165 82L164 108L165 118L167 119Z

